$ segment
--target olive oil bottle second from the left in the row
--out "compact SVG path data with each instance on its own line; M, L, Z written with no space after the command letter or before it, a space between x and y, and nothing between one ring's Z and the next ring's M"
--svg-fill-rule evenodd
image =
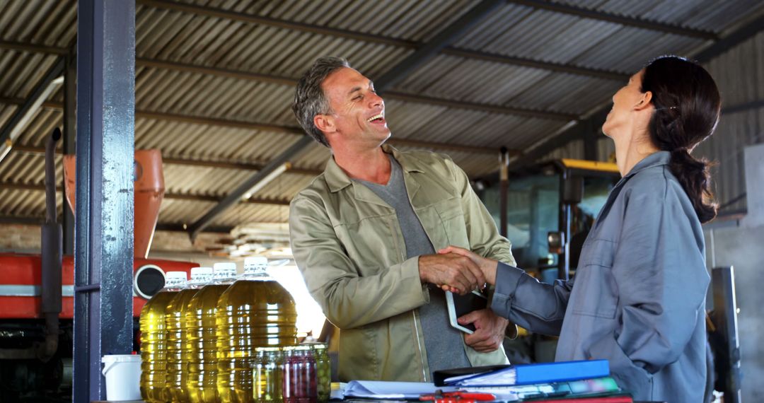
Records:
M203 285L212 280L212 267L194 267L186 288L178 292L167 304L164 320L167 328L167 390L172 401L189 401L186 377L189 353L186 351L186 311L188 304Z

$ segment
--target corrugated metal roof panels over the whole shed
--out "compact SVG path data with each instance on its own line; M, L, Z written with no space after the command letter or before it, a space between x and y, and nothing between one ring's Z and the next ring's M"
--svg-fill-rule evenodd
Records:
M173 4L192 5L193 10L176 10ZM167 198L160 212L160 223L195 221L215 205L212 199L231 192L257 172L254 166L264 166L299 138L299 134L294 133L297 124L290 110L292 83L316 57L345 56L354 67L375 79L476 4L477 0L183 0L178 3L138 0L136 148L157 148L166 159L180 160L180 163L165 164L167 192L177 197L197 198ZM715 33L724 32L745 18L764 14L764 7L752 0L724 4L697 0L681 2L681 5L672 0L584 0L569 4ZM207 11L238 13L238 17L244 18L236 15L225 18ZM270 22L246 21L247 16L270 18ZM278 24L273 23L274 19ZM324 28L342 32L327 32ZM377 39L364 35L374 35ZM0 75L0 127L8 122L18 103L31 94L57 57L73 46L75 38L76 2L73 0L0 1L0 71L3 72ZM696 37L507 2L455 40L452 48L519 57L541 65L519 66L507 60L488 61L455 56L448 51L441 53L389 89L423 96L425 100L404 101L389 96L387 119L393 139L486 148L489 152L474 153L426 144L420 147L448 153L465 172L476 178L496 171L500 147L523 150L568 123L559 117L532 118L496 108L582 115L607 103L622 85L620 79L562 73L545 68L543 63L627 76L653 56L687 54L702 44L704 40ZM746 44L726 57L729 60L760 59L764 53L761 49L759 42ZM741 74L756 76L758 82L764 82L761 66L744 64L740 68ZM723 67L712 66L712 69L723 75L720 73ZM262 76L270 78L262 79ZM748 102L764 97L764 89L756 85L740 85L730 79L720 86L725 102ZM428 98L442 103L428 102ZM53 127L62 125L63 91L59 89L48 101L34 113L16 141L32 150L12 151L0 163L0 216L40 217L44 214L43 192L38 190L44 182L43 158L39 151L45 136ZM470 105L459 107L462 102ZM490 108L481 110L480 105ZM732 127L733 118L725 117L724 121L727 119ZM749 120L741 122L740 125L750 124ZM720 131L724 130L727 129L720 127ZM569 151L579 153L581 150L577 147L571 145ZM490 153L491 149L497 150L496 153ZM299 169L321 170L329 156L329 150L315 144L292 162ZM248 167L238 169L225 163ZM254 198L288 200L310 180L311 176L306 173L286 172ZM5 187L2 184L6 184ZM213 225L283 222L287 214L288 208L283 205L245 203L231 208Z

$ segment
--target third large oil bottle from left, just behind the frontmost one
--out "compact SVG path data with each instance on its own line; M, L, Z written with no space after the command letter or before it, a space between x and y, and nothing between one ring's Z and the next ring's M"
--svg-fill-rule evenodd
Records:
M236 279L236 263L215 263L212 282L191 298L186 311L189 348L186 388L193 403L221 401L218 397L217 327L218 299Z

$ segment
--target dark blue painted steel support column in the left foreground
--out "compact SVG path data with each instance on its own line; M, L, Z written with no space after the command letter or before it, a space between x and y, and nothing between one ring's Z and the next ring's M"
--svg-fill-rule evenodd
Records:
M135 2L79 0L73 401L132 350Z

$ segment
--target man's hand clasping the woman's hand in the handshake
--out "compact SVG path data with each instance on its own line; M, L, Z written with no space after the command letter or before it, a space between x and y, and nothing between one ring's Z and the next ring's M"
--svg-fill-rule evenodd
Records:
M456 253L419 256L419 279L460 295L485 284L478 265L467 256Z

